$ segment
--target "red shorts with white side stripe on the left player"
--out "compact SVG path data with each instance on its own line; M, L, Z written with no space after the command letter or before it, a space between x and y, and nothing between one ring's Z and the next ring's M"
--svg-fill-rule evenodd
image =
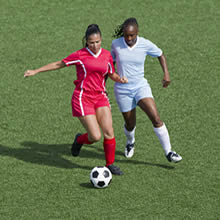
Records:
M106 93L85 93L84 91L75 90L72 96L72 114L74 117L85 115L95 115L96 109L107 106L110 103Z

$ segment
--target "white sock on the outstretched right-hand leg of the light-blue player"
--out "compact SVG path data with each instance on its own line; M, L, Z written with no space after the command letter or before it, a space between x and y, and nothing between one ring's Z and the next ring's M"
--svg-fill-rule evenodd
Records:
M171 144L170 144L170 137L166 125L163 123L163 125L159 128L154 127L154 132L159 138L160 144L162 145L163 150L167 155L171 151Z

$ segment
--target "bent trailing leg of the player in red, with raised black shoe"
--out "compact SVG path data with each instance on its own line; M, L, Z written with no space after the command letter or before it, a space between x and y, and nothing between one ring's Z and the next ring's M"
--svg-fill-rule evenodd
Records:
M71 152L73 156L78 156L83 144L92 144L101 139L101 132L96 115L86 115L78 117L87 133L77 134L73 142Z

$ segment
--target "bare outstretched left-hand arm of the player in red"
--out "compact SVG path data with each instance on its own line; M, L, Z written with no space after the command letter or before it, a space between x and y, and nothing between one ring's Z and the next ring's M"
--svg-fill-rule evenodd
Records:
M42 67L40 67L38 69L35 69L35 70L26 70L25 73L24 73L24 77L34 76L34 75L36 75L37 73L40 73L40 72L46 72L46 71L50 71L50 70L57 70L57 69L65 67L65 66L66 66L66 64L63 61L57 61L57 62L49 63L49 64L47 64L45 66L42 66Z

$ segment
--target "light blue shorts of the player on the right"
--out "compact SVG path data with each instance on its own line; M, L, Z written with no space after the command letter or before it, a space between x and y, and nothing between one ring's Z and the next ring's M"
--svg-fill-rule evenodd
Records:
M153 98L150 85L129 88L114 87L115 98L121 112L129 112L136 108L138 102L143 98Z

